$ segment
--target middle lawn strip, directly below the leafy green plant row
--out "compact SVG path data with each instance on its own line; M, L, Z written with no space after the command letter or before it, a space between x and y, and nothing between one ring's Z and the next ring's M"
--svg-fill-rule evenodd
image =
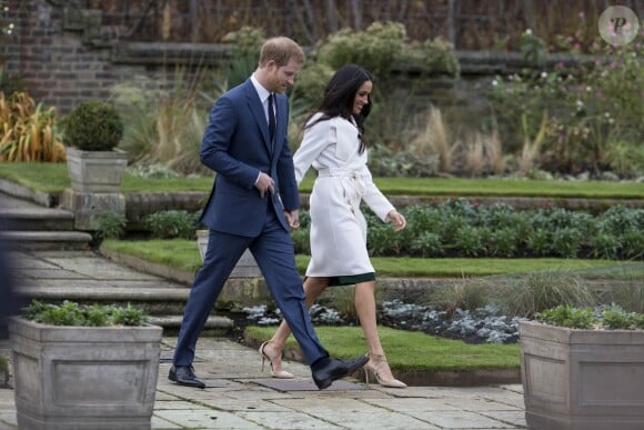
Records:
M180 270L194 271L201 267L197 241L171 240L105 240L101 244L115 252L139 257ZM300 273L304 273L310 256L295 256ZM543 270L580 270L603 267L642 267L642 262L577 259L492 259L492 258L386 258L371 259L380 276L404 278L460 278L503 273L530 273Z

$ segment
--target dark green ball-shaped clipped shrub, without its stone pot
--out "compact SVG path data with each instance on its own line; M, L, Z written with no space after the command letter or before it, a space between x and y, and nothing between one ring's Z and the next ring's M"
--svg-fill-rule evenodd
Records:
M64 120L64 142L83 151L110 151L123 138L123 121L112 104L83 101Z

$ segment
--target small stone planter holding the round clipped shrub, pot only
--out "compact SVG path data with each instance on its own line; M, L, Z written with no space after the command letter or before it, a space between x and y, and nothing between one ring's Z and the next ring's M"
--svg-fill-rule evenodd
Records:
M76 192L119 193L127 167L128 154L120 150L67 148L67 169Z

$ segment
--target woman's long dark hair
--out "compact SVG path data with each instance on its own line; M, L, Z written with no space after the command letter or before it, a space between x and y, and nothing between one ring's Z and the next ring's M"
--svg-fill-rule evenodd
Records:
M362 107L362 111L359 114L353 113L353 102L358 90L366 81L373 81L373 77L360 66L346 64L340 68L324 89L324 99L318 108L318 112L322 112L322 116L306 127L312 127L320 121L326 121L335 117L345 119L353 117L360 131L360 153L364 152L366 148L364 119L369 117L371 111L371 94L369 96L369 103Z

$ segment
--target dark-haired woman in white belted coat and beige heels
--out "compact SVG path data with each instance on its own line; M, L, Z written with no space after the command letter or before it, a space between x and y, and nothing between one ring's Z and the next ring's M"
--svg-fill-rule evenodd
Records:
M310 167L318 178L310 198L311 261L306 269L306 304L329 286L355 284L355 309L369 347L364 366L385 387L406 384L392 376L380 342L375 312L375 270L366 250L366 221L360 211L364 201L396 231L404 217L373 183L366 167L364 119L371 110L372 78L355 64L335 72L324 90L324 100L304 129L300 149L293 157L298 183ZM298 228L296 220L289 220ZM282 321L273 338L262 343L260 353L271 363L275 378L293 378L282 370L282 350L290 334Z

